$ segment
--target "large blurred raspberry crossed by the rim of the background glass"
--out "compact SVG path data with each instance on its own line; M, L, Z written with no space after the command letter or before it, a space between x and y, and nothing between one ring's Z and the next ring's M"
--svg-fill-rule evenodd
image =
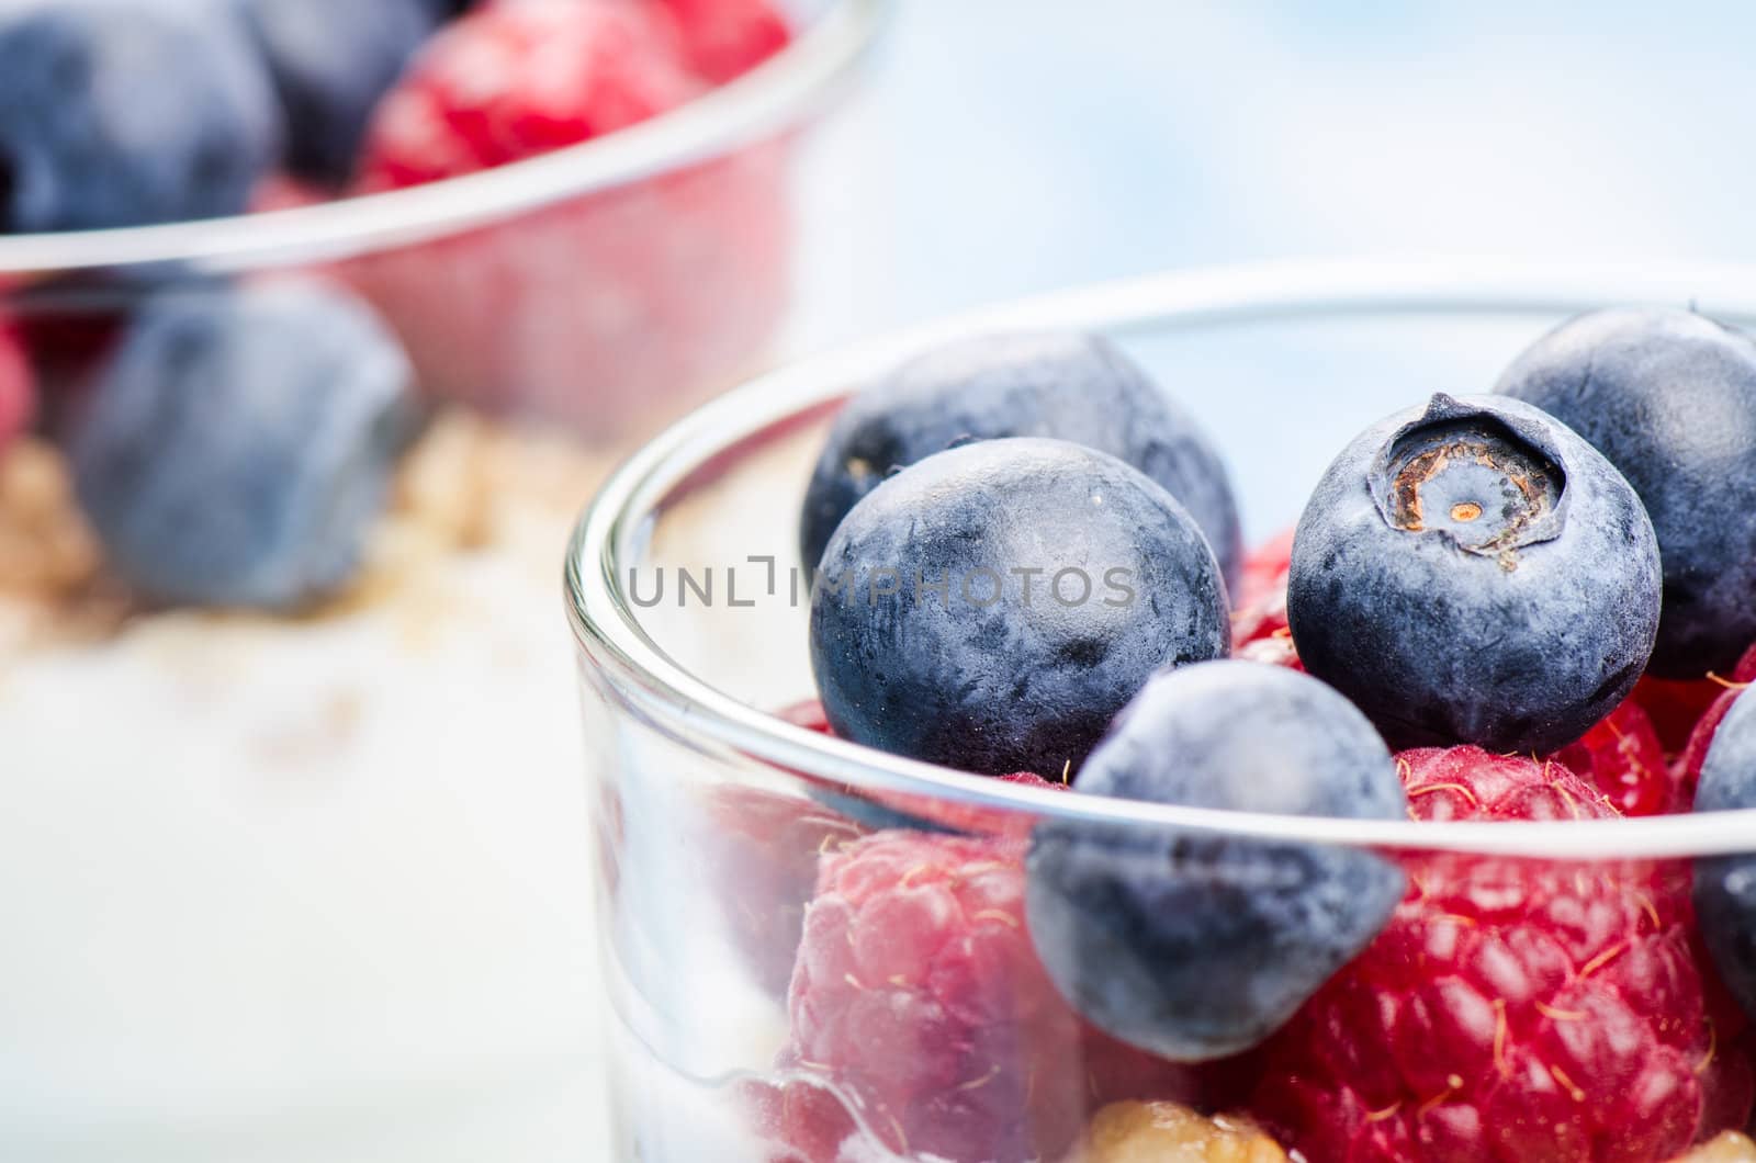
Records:
M662 11L490 5L435 35L379 105L358 188L592 141L702 88ZM432 392L615 436L720 386L767 339L787 297L785 163L783 144L753 146L348 272Z

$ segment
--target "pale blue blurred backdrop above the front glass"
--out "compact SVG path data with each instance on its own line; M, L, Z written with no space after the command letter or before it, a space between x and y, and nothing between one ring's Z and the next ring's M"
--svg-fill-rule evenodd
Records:
M1737 4L904 2L794 339L1240 258L1756 258L1752 33Z

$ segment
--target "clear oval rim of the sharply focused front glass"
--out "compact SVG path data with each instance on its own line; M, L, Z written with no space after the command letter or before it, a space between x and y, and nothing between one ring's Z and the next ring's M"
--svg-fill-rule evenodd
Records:
M1419 822L1266 815L1066 796L903 759L762 712L671 659L620 583L657 506L715 459L831 409L876 367L985 330L1112 334L1359 314L1556 314L1630 302L1679 304L1756 321L1756 264L1538 264L1480 256L1291 260L1098 283L853 343L746 381L636 451L602 485L567 548L564 585L578 645L616 699L697 748L880 794L922 796L1040 819L1180 827L1266 842L1547 861L1666 859L1756 850L1756 808L1614 820ZM1370 418L1368 418L1370 420Z

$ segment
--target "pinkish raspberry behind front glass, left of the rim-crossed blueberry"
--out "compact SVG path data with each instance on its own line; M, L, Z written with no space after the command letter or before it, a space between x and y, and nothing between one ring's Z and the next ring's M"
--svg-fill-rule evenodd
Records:
M1189 1089L1182 1068L1087 1031L1055 993L1024 926L1022 854L896 831L822 863L781 1065L841 1093L889 1151L1055 1158L1110 1087Z

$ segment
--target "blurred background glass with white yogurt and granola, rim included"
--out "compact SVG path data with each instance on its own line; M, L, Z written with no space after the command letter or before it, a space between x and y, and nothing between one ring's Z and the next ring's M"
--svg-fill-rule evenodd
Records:
M785 7L773 60L578 148L0 237L0 320L42 381L0 448L0 1158L594 1154L555 567L611 457L750 374L792 311L795 211L890 5ZM293 613L119 592L56 448L90 372L148 300L281 274L363 292L434 404L358 576Z

